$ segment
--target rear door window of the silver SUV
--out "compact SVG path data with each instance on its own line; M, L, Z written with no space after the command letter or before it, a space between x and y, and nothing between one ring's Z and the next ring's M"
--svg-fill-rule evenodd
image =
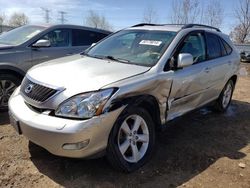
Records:
M214 59L221 56L221 47L216 35L207 33L207 53L208 59Z

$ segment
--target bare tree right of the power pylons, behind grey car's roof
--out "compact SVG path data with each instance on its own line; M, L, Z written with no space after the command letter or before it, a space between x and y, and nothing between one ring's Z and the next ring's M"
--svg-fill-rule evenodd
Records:
M98 13L90 10L86 17L86 25L94 28L113 30L113 26L106 20L106 18Z

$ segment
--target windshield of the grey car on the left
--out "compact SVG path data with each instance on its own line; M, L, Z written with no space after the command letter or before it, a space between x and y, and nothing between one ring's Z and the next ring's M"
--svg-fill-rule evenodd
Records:
M37 35L46 27L26 25L0 35L0 44L19 45Z

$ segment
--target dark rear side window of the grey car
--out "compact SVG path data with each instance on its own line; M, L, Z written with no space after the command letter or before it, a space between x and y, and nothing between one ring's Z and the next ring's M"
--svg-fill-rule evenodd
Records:
M106 34L81 29L72 30L72 46L89 46L106 37Z

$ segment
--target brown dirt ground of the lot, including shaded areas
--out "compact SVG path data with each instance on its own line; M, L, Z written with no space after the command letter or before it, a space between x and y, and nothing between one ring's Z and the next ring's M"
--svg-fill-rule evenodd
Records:
M242 67L250 74L250 63ZM0 187L250 187L250 76L240 78L226 114L205 108L179 119L132 174L114 171L105 158L53 156L8 123L0 114Z

